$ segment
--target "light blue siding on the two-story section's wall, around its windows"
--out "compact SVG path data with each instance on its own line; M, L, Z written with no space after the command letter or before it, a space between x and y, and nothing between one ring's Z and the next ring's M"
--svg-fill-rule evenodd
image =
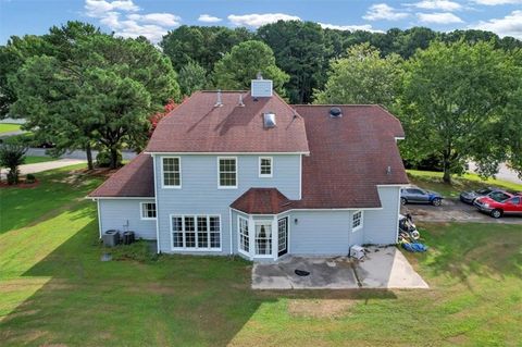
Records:
M157 160L159 246L162 252L172 252L170 214L217 214L221 215L221 252L231 253L229 206L249 188L274 187L289 199L299 197L299 154L271 154L273 176L259 177L259 157L254 154L234 156L237 158L237 189L217 188L217 156L185 154L182 159L182 188L161 187L161 157ZM236 235L233 230L234 247L237 252ZM195 252L200 255L201 252Z

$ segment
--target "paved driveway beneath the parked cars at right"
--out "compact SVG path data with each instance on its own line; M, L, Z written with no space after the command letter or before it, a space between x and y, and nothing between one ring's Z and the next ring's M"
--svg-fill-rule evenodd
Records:
M480 212L474 206L463 203L458 199L444 199L443 206L408 203L400 213L410 213L414 222L469 222L469 223L506 223L522 224L522 216L504 215L494 219Z

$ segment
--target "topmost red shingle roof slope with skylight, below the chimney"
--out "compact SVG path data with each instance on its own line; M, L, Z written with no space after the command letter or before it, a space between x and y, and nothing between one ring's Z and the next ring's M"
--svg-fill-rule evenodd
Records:
M243 96L245 107L239 107ZM199 91L160 121L146 152L308 152L304 121L278 96ZM273 112L277 126L263 127L263 113Z

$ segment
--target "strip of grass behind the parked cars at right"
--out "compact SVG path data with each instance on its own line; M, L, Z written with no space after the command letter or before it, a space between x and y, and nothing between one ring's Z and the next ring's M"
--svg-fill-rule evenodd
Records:
M522 191L521 184L496 178L488 178L484 181L478 175L473 173L467 173L462 176L453 176L451 177L452 182L449 185L443 182L442 172L419 170L407 170L407 172L412 184L425 189L438 191L447 198L456 198L462 190L475 190L486 186Z

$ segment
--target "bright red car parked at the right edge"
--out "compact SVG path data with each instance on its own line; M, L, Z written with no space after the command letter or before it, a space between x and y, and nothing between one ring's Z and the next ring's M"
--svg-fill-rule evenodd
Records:
M510 194L499 191L498 194L478 198L473 205L482 212L493 218L500 218L504 214L522 215L522 194Z

